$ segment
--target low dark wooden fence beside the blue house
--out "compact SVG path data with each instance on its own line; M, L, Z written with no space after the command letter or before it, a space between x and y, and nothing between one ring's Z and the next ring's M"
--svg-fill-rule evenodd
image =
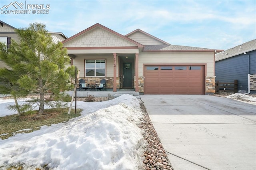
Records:
M238 80L234 80L234 82L228 82L228 83L216 81L215 94L220 94L220 91L234 91L234 93L237 93Z

